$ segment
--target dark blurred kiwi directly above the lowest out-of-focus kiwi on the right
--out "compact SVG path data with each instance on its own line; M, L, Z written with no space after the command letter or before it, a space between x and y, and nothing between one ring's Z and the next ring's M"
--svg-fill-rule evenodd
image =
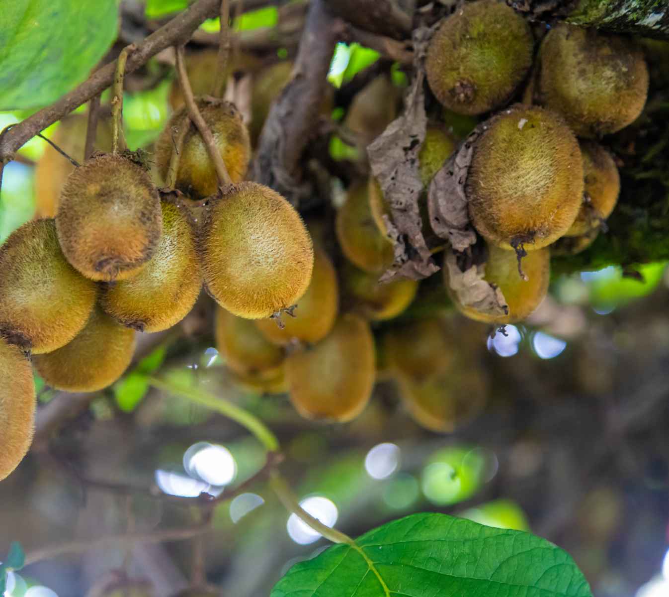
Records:
M442 319L427 317L387 331L383 349L391 371L421 380L450 367L458 345Z

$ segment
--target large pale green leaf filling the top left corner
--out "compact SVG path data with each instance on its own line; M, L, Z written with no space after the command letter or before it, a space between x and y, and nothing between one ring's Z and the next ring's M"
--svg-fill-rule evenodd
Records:
M0 12L0 110L54 102L116 38L115 0L11 0Z

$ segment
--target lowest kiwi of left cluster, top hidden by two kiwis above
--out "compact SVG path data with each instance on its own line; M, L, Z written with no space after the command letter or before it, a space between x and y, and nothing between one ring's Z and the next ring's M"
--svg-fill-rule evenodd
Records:
M33 356L47 385L66 392L97 392L111 386L130 365L134 331L96 307L86 327L58 350Z

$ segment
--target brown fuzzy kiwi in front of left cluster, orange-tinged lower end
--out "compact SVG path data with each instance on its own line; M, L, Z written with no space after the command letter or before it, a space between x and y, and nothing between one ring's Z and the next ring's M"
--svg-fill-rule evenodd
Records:
M122 155L100 154L76 168L60 193L58 240L86 278L124 280L151 259L163 223L149 173Z

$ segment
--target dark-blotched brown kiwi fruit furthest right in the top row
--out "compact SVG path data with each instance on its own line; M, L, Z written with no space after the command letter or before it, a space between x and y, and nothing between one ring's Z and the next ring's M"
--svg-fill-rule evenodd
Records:
M579 137L624 129L646 103L648 67L628 37L561 23L543 39L539 64L535 102L559 112Z

